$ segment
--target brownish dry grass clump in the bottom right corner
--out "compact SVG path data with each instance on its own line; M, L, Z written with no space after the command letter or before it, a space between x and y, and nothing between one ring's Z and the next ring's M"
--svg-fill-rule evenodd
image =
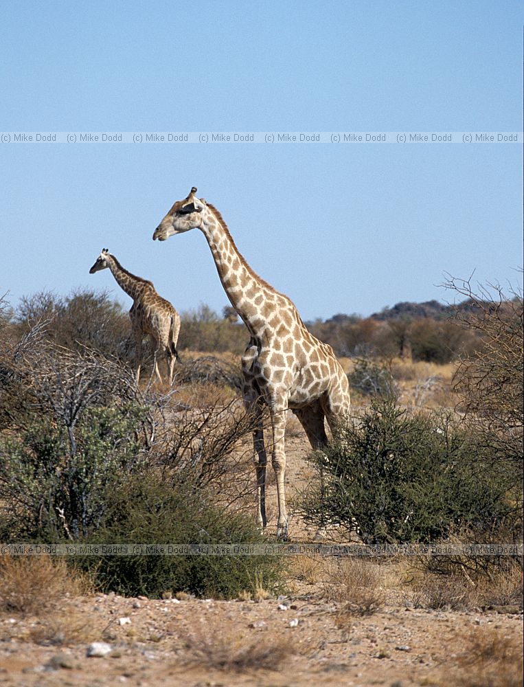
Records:
M462 642L461 638L461 642ZM523 684L522 647L494 628L477 628L464 638L459 656L460 687L519 687Z

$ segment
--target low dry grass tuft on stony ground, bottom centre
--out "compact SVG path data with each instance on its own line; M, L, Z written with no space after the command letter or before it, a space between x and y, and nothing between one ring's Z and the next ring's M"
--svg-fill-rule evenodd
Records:
M284 635L264 636L264 641L247 640L245 633L228 633L224 627L198 629L185 644L187 662L219 671L247 671L266 668L276 671L295 653Z

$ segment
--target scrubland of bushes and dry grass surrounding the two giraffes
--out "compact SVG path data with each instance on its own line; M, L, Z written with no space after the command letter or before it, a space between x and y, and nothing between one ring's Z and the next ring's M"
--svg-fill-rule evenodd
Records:
M341 358L355 410L341 442L309 456L312 480L293 502L307 522L365 543L521 541L522 298L448 286L465 299L455 311L404 307L396 317L310 323ZM4 297L1 541L264 541L253 518L252 420L240 402L246 342L230 308L222 317L206 306L184 313L173 387L146 375L137 389L128 316L106 293L38 293L15 309ZM518 556L415 562L413 593L430 607L521 604ZM10 608L22 603L5 592L13 565L29 563L3 562ZM276 556L71 565L102 591L135 596L255 598L293 576ZM314 576L317 563L308 565L301 574ZM383 603L367 565L327 576L326 594L347 596L340 627Z

